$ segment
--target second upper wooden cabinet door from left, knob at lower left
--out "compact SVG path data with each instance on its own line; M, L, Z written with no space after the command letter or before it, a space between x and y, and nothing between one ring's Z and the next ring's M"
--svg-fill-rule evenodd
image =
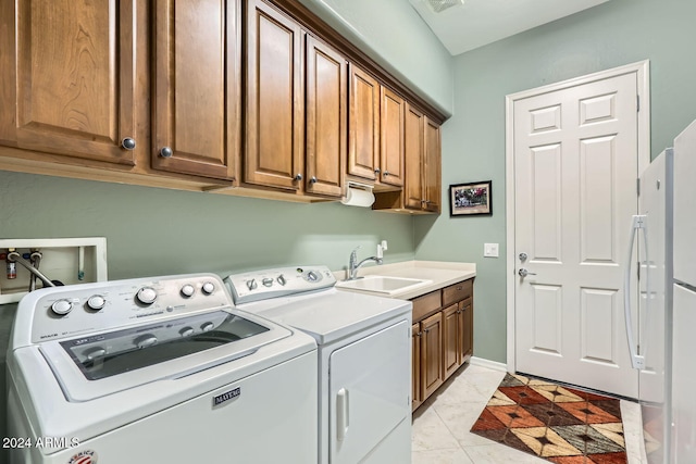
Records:
M234 179L239 155L238 0L157 0L152 167Z

